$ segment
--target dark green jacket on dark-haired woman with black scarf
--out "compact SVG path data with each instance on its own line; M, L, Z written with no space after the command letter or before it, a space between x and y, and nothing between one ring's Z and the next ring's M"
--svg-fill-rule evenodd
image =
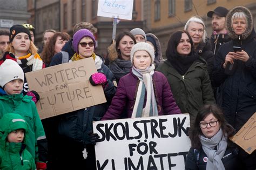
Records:
M157 71L166 76L181 112L190 113L191 126L200 107L215 103L207 64L203 58L199 57L185 75L180 75L169 60L161 63Z

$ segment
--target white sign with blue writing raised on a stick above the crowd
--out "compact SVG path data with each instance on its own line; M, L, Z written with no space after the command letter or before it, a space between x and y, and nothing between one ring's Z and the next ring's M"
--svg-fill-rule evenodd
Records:
M98 16L132 19L133 0L99 0Z

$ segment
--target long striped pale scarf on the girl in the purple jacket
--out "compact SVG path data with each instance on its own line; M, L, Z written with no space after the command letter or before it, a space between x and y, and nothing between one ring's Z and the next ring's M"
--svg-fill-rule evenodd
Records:
M136 100L132 111L132 118L157 116L157 102L154 96L154 87L152 76L154 74L154 65L145 70L132 67L132 73L139 79L139 87L136 94ZM146 93L146 105L143 108Z

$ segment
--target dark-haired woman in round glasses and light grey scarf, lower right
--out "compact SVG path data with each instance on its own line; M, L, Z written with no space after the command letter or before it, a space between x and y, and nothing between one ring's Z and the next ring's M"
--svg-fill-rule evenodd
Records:
M204 105L190 129L191 148L185 169L240 169L238 148L230 141L234 128L216 105Z

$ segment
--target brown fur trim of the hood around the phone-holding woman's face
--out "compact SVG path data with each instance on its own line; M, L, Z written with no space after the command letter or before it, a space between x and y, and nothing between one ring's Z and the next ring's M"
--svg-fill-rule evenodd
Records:
M235 12L244 12L246 15L247 26L246 26L245 32L243 32L241 35L241 39L246 39L251 34L251 32L253 30L252 13L250 12L250 10L248 10L244 6L236 6L235 8L231 9L230 12L227 13L226 29L227 29L228 35L231 37L231 39L238 38L238 35L235 34L235 32L232 28L232 22L231 22L231 18Z

